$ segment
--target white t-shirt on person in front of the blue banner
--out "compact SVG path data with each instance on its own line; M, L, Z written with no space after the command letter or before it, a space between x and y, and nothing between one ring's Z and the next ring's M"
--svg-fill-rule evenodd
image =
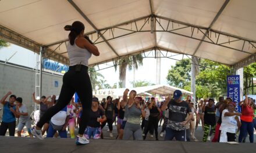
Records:
M225 131L225 132L229 132L229 133L236 133L236 129L237 129L237 122L236 119L234 119L234 116L224 116L225 112L229 112L227 110L223 110L222 111L222 123L221 123L221 127L219 128L219 130ZM239 118L240 120L240 118Z

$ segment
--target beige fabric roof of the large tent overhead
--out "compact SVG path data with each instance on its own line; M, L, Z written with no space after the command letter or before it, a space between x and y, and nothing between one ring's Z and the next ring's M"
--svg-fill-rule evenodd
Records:
M45 46L45 57L68 64L63 27L79 20L101 53L90 65L156 47L234 65L255 56L254 6L254 0L0 1L0 38L34 51Z

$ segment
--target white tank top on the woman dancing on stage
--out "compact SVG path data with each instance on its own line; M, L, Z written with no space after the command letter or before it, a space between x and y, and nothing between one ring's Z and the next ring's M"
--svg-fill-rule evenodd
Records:
M77 38L76 38L77 39ZM74 45L72 46L70 42L67 43L67 54L69 55L69 65L82 64L88 67L88 60L91 57L91 52L87 49L80 48L76 45L76 39L74 39Z

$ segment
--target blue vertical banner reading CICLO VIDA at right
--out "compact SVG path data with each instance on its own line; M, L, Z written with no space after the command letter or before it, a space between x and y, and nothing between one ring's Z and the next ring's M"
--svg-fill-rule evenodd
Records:
M227 97L236 103L236 111L241 112L240 102L240 75L227 75Z

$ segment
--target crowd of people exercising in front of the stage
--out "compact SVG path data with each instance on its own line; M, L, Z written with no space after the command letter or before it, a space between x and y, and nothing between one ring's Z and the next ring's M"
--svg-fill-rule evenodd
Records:
M9 97L9 101L6 99ZM40 100L32 99L40 105L39 115L34 114L35 124L40 120L50 107L56 104L59 96L42 96ZM91 109L88 112L88 123L84 130L86 139L104 139L102 129L108 125L109 137L113 137L113 124L116 125L116 139L118 140L145 140L148 132L150 137L158 140L158 126L162 126L160 137L164 140L191 141L195 138L195 130L201 122L204 135L202 141L228 142L236 141L239 133L239 143L245 142L247 135L251 143L254 142L254 129L256 130L256 105L255 100L247 97L239 103L241 113L236 112L236 104L230 97L219 97L218 103L214 99L201 99L194 104L190 96L182 100L182 92L176 90L173 97L158 101L155 97L147 100L137 96L135 90L126 89L123 97L113 99L111 96L102 99L93 97ZM51 99L51 100L49 100ZM3 104L3 119L0 126L0 135L15 136L16 118L17 136L21 136L24 126L30 137L31 117L23 104L22 97L8 92L1 99ZM83 108L78 99L77 103L72 98L61 111L45 122L42 135L46 137L75 138L75 129L81 122ZM37 118L38 116L38 118ZM162 123L163 121L163 123ZM69 131L69 134L68 132ZM69 135L69 136L68 136ZM213 135L213 136L212 136ZM212 140L211 140L212 137Z

